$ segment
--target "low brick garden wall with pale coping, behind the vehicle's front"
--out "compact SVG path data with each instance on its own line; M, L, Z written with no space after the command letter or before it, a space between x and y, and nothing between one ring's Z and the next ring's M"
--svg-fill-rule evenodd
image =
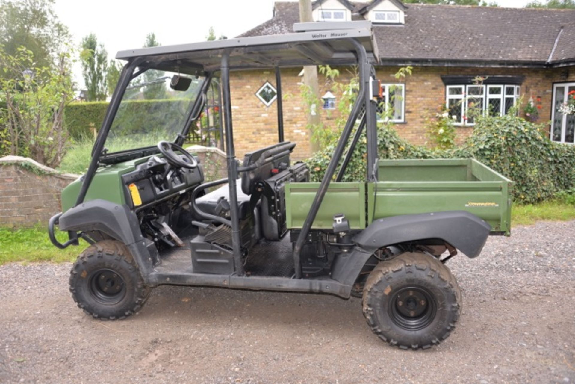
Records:
M186 149L204 165L206 181L226 177L225 153L220 149L200 145ZM50 217L62 211L62 189L78 177L21 156L0 158L0 226L48 225Z

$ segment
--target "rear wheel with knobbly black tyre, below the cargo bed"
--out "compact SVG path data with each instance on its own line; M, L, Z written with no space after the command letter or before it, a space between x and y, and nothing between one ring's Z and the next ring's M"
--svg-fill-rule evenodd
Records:
M461 291L444 264L405 253L379 263L363 290L363 314L372 331L400 348L430 348L450 335Z

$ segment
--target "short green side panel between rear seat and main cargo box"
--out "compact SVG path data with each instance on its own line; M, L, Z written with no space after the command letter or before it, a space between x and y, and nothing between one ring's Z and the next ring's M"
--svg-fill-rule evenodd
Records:
M320 183L286 183L287 228L301 228L319 186ZM365 228L365 183L329 184L312 228L332 229L333 215L338 213L346 215L351 228Z

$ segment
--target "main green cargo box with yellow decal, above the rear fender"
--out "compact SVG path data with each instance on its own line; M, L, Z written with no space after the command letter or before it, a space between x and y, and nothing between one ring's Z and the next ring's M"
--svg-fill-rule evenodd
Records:
M466 210L511 231L511 181L473 159L381 160L379 182L368 183L368 223L374 219Z

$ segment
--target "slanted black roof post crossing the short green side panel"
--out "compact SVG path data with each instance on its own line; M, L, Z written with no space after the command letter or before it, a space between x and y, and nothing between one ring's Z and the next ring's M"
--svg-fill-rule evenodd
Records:
M366 72L365 64L367 62L367 53L365 48L359 41L352 39L352 44L354 44L356 54L358 56L359 63L359 94L354 107L351 109L350 116L347 118L346 126L343 128L342 136L339 137L338 145L336 145L333 151L333 156L325 170L325 175L321 179L321 184L317 189L316 197L313 199L312 206L309 208L308 216L305 218L304 224L301 227L300 235L297 237L296 245L293 248L293 262L294 268L296 270L296 278L301 279L301 249L304 247L305 240L308 237L309 230L312 228L313 221L316 218L317 211L320 209L321 202L327 192L329 187L329 182L338 167L339 160L342 158L343 151L346 149L347 141L350 139L351 131L354 128L355 121L359 118L359 114L369 99L369 93L367 92L366 85L369 86L369 75L370 71ZM367 78L367 82L366 82ZM366 106L367 107L367 106ZM366 109L367 111L367 109Z

